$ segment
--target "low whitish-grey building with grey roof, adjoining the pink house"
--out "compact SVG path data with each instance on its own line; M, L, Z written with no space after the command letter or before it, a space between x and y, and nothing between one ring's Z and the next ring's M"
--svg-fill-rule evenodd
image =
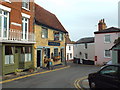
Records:
M81 38L74 45L74 57L80 58L80 62L83 64L94 64L95 56L95 43L94 37Z

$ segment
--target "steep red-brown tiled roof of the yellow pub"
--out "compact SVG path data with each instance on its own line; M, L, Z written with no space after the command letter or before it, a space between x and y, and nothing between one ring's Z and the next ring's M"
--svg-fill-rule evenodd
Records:
M62 26L54 14L45 10L37 4L35 4L35 23L67 33L65 28Z

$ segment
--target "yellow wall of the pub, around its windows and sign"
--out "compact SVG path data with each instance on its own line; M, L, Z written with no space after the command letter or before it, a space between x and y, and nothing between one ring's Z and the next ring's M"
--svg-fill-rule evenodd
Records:
M52 29L49 29L48 28L48 38L41 38L41 31L42 31L42 27L40 25L35 25L34 26L34 30L35 30L35 35L36 35L36 44L34 45L35 47L35 51L34 51L34 66L36 67L37 65L37 47L49 47L50 48L50 53L54 52L54 48L58 48L58 52L60 52L60 49L61 48L64 48L65 49L65 38L63 41L60 41L60 46L49 46L48 45L48 41L51 40L53 41L54 40L54 33ZM65 37L65 34L63 35L63 37ZM43 48L41 48L43 49ZM44 52L42 52L44 53ZM65 56L65 50L64 50L64 56ZM44 60L44 54L42 55L42 60ZM42 61L43 62L43 61ZM61 62L55 62L53 63L54 65L55 64L60 64ZM44 66L44 62L42 63L43 66Z

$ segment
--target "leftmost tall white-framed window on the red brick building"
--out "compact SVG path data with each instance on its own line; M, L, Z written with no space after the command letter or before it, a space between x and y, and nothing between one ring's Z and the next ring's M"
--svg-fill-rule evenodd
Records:
M9 12L0 9L0 37L7 38L9 27Z

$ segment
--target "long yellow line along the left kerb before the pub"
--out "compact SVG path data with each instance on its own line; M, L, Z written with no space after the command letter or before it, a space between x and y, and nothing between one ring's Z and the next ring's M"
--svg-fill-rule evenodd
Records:
M11 81L15 81L15 80L22 79L22 78L26 78L26 77L30 77L30 76L34 76L34 75L39 75L39 74L49 73L49 72L53 72L53 71L58 71L58 70L62 70L62 69L69 68L69 67L70 67L70 66L66 66L66 67L59 68L59 69L54 69L54 70L49 70L49 71L44 71L44 72L33 73L33 74L29 74L29 75L25 75L25 76L13 78L13 79L1 81L0 84L2 84L2 83L7 83L7 82L11 82Z

